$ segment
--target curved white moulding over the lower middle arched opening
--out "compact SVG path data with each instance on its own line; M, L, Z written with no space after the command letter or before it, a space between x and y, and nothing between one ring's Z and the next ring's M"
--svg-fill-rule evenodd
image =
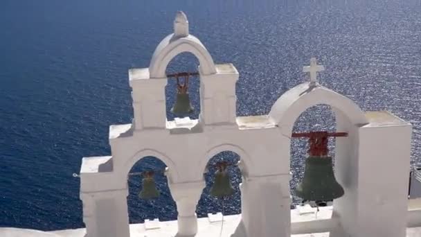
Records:
M240 156L240 161L242 161L242 165L240 166L240 168L243 171L243 175L249 174L250 168L253 167L253 161L250 158L249 154L245 150L240 148L240 146L225 143L218 146L214 146L213 148L206 151L206 153L204 154L204 159L201 159L200 161L199 169L195 176L202 177L206 169L206 164L208 164L208 162L212 159L212 157L224 151L231 151L231 152L237 153L237 155Z

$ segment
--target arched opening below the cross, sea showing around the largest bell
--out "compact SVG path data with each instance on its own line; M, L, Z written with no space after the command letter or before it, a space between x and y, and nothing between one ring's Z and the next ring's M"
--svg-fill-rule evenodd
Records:
M294 123L292 132L336 132L336 130L336 119L332 107L329 105L315 105L307 108L303 113L300 114L300 116L298 116L298 119ZM309 139L305 137L292 138L290 146L290 168L292 171L292 179L289 185L292 191L292 203L301 204L303 200L294 194L294 190L296 186L298 186L298 184L303 180L305 160L308 157ZM328 139L328 156L333 158L333 162L335 159L334 148L335 138L330 137Z

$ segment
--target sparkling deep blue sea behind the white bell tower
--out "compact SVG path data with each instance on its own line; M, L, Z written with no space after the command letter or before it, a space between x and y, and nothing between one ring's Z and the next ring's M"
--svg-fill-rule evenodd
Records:
M326 67L323 85L363 109L388 109L413 123L413 164L421 159L420 0L3 0L0 6L0 227L82 227L79 179L71 175L82 157L109 155L109 125L130 123L127 69L148 66L177 10L186 12L190 33L215 62L233 62L240 71L238 115L267 114L281 94L307 80L301 69L316 56ZM191 55L181 55L168 71L196 66ZM197 87L192 82L199 108ZM170 84L168 108L173 91ZM296 130L333 129L327 109L305 112ZM302 175L303 148L305 141L293 141L293 186ZM134 170L163 166L142 162ZM237 193L226 213L240 211L239 170L232 175ZM131 222L177 216L165 178L157 181L162 197L145 202L136 198L138 178L129 179ZM208 188L199 216L222 208Z

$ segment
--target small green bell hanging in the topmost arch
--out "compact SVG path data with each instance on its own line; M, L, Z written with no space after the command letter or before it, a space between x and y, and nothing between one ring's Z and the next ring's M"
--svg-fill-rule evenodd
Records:
M190 97L188 96L188 76L183 85L180 84L178 76L177 78L177 98L174 105L172 106L171 112L173 114L182 116L186 114L191 114L194 109L190 103Z

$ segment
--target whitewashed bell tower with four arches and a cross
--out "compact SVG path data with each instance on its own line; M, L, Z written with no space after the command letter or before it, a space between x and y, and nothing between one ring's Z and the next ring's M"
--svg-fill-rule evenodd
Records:
M179 53L199 60L199 119L168 121L165 115L165 69ZM190 35L183 12L174 19L174 33L156 47L150 65L129 70L133 123L111 125L111 155L84 157L80 198L87 237L129 237L127 177L143 157L156 157L168 170L168 184L177 204L177 231L172 236L206 236L200 232L196 206L205 186L204 170L214 155L240 156L242 213L235 237L290 237L312 233L330 237L404 237L411 152L411 125L389 112L363 112L349 98L316 81L323 66L312 59L310 82L289 89L262 116L236 116L233 64L215 64L204 44ZM291 223L290 142L298 116L308 107L330 105L337 130L335 175L345 194L334 200L332 218ZM181 121L181 122L180 122ZM299 227L298 227L299 226ZM143 225L142 225L142 228ZM147 234L147 229L137 229ZM308 232L310 231L310 232ZM162 236L168 236L163 229ZM164 234L165 233L165 234ZM226 236L231 236L226 235Z

